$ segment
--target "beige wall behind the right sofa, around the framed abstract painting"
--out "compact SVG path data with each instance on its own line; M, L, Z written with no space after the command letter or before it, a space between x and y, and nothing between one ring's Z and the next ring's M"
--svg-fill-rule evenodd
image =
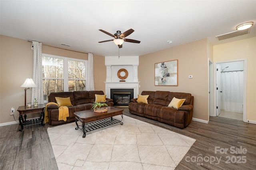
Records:
M210 48L208 40L203 39L140 56L139 94L143 90L191 93L194 96L193 117L208 121L208 55L212 51ZM178 86L154 86L154 63L177 59ZM193 78L188 78L189 75Z

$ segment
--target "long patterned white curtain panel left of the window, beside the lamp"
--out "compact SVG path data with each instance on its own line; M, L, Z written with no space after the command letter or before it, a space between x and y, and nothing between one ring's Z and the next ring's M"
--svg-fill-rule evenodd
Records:
M32 41L33 48L33 80L37 87L32 88L32 102L37 99L38 104L44 104L42 84L42 43Z

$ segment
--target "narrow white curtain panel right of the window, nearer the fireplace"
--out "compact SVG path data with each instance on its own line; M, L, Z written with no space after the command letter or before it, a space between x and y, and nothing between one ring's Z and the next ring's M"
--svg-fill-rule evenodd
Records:
M94 90L94 80L93 80L93 54L88 54L88 66L86 73L86 90Z

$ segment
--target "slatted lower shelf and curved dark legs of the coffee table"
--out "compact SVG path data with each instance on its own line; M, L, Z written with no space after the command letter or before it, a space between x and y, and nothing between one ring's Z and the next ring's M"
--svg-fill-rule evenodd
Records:
M122 118L123 118L123 115L121 115ZM102 119L102 120L97 120L95 122L90 122L90 123L82 123L81 125L78 125L78 121L80 121L78 118L76 118L76 130L80 129L82 130L82 132L84 132L83 134L83 138L85 138L86 136L86 132L90 132L92 130L96 130L96 129L99 129L99 128L104 128L106 126L110 126L112 124L117 124L117 123L120 123L121 125L123 124L122 120L118 120L118 119L115 119L113 117L111 118L106 118L106 119ZM81 121L80 121L81 122Z

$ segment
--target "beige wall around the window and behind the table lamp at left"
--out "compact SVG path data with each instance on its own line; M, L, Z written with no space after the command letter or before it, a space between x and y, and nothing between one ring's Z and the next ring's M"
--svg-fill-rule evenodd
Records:
M88 54L42 46L42 52L57 56L87 60ZM24 88L20 86L26 78L32 78L33 50L31 42L0 35L0 123L13 122L10 108L15 108L15 119L18 121L17 109L24 105ZM104 56L94 55L95 90L105 91L106 66ZM99 69L100 68L100 69ZM31 100L31 89L27 90L27 101ZM33 115L28 115L30 118Z

